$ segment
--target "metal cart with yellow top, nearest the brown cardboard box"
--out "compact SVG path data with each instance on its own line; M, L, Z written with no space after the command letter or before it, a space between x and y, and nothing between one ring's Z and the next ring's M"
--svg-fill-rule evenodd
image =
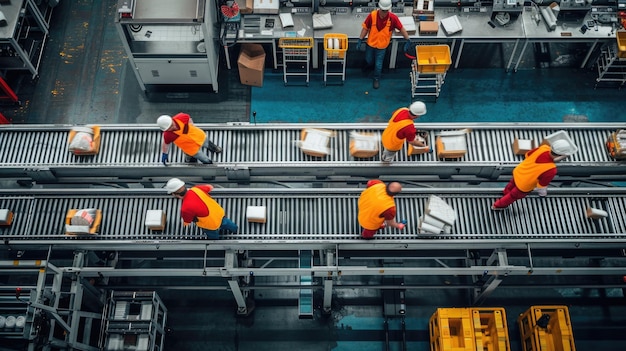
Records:
M304 83L308 86L313 38L280 38L278 47L283 51L285 86L288 83L288 77L304 77Z

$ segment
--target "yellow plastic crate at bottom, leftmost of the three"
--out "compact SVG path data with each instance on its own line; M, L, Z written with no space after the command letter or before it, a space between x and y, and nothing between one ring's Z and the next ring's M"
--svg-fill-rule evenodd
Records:
M475 351L469 308L438 308L430 318L431 351Z

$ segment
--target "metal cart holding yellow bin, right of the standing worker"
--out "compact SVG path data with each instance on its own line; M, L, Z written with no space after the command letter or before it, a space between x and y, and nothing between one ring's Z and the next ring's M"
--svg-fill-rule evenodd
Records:
M411 97L439 97L452 59L448 45L418 45L411 62Z

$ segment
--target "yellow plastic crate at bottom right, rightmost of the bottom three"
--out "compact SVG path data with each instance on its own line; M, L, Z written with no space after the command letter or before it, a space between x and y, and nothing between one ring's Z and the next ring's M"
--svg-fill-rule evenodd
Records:
M537 325L550 316L546 328ZM531 306L517 319L523 351L576 351L569 311L566 306Z

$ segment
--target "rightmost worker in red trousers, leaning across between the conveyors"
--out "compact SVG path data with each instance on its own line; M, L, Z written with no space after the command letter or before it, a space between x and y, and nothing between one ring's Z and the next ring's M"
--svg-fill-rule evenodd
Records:
M491 209L503 210L535 189L539 196L546 196L548 185L557 173L555 162L573 155L576 151L576 146L563 139L528 151L524 161L513 169L513 177L502 191L504 196Z

